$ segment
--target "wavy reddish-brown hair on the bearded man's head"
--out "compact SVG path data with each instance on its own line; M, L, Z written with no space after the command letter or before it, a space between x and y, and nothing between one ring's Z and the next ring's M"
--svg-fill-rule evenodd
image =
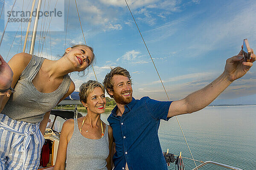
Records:
M122 67L115 67L115 68L111 68L111 71L105 76L105 79L103 81L103 85L104 88L106 89L107 93L108 91L113 91L113 82L112 82L112 77L114 75L122 75L125 77L128 77L129 80L131 81L131 76L129 71L127 71L126 69L122 68ZM110 95L108 93L109 96L111 96L111 98L113 98L113 95Z

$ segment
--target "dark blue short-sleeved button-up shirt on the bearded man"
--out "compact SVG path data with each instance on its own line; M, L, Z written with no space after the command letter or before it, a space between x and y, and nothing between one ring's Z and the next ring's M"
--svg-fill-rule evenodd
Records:
M116 153L114 170L167 170L166 161L158 138L160 119L167 118L172 102L162 102L149 97L132 99L125 105L122 116L113 108L108 122L113 128Z

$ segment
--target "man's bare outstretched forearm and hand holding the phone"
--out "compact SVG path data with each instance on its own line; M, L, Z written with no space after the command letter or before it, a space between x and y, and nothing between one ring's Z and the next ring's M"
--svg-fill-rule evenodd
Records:
M227 59L224 72L206 87L189 94L184 99L173 101L170 105L168 116L177 116L185 113L199 111L209 105L222 91L234 80L244 76L249 71L256 56L251 49L250 62L244 62L242 51L237 56Z

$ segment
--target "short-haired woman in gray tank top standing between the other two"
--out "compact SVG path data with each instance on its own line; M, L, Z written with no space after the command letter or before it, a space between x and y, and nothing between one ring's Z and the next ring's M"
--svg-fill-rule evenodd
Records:
M112 170L112 128L102 122L105 112L105 89L89 80L79 89L87 115L64 122L54 170Z

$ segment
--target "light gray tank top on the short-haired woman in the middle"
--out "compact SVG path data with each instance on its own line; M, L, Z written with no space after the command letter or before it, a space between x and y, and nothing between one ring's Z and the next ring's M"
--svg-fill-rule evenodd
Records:
M66 170L108 170L108 125L101 139L87 139L81 135L74 119L74 132L67 144Z

